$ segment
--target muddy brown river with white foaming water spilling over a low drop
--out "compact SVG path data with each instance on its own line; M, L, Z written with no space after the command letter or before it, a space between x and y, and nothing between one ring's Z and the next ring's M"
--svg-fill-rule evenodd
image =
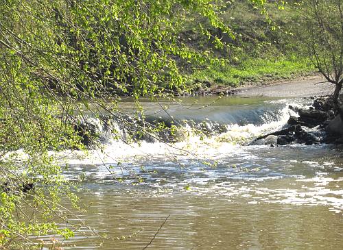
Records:
M342 149L250 143L285 126L288 105L311 100L216 98L143 102L150 121L191 119L208 138L109 140L83 158L64 153L64 175L84 176L80 218L94 230L82 227L64 249L143 249L151 240L147 249L343 249Z

